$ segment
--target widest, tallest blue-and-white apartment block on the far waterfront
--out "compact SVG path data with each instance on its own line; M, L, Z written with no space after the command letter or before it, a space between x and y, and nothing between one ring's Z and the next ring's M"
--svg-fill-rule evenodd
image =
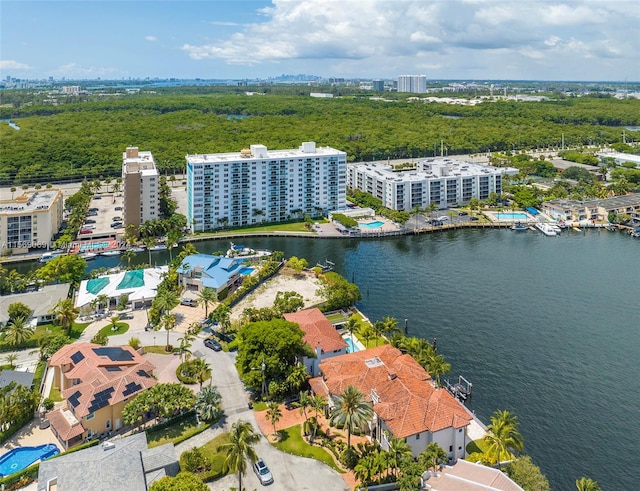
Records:
M187 155L193 230L280 222L346 208L347 154L305 142L293 150Z

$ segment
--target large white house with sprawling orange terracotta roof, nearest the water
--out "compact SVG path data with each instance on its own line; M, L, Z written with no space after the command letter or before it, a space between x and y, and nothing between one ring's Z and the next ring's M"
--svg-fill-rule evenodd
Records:
M316 394L331 401L331 395L352 385L373 403L369 430L384 449L389 448L389 432L404 439L414 456L436 442L450 461L464 458L466 428L473 417L446 389L434 387L411 355L386 344L323 360L320 372L321 377L310 380Z

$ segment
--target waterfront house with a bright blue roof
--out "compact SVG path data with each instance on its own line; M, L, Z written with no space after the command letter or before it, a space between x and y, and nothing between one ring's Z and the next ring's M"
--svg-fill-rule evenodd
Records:
M249 272L243 261L242 258L192 254L184 258L177 270L178 283L187 290L211 288L221 293L226 288L239 285L242 276Z

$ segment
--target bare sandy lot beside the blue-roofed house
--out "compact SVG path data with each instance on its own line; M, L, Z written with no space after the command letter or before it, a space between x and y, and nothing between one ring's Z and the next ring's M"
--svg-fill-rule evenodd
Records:
M233 307L231 320L240 319L242 312L247 308L272 307L278 292L298 292L304 298L305 308L316 305L323 300L317 293L319 288L320 282L313 273L293 275L284 271L260 285Z

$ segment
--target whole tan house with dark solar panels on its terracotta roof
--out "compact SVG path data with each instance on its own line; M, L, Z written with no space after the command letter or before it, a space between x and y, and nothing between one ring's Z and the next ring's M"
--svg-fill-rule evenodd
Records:
M122 427L125 404L153 387L155 366L130 346L74 343L49 360L66 407L47 414L65 449Z

